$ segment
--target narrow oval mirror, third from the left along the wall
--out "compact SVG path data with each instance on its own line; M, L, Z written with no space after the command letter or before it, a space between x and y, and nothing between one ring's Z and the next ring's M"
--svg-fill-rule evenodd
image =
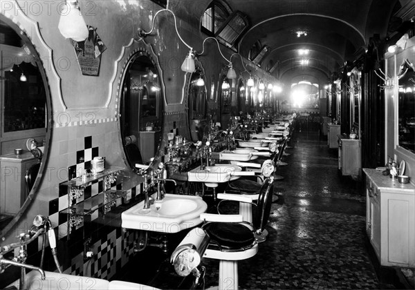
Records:
M196 142L203 139L203 124L206 122L206 112L208 108L208 94L205 84L205 75L202 68L197 68L192 73L189 81L188 106L190 136Z

